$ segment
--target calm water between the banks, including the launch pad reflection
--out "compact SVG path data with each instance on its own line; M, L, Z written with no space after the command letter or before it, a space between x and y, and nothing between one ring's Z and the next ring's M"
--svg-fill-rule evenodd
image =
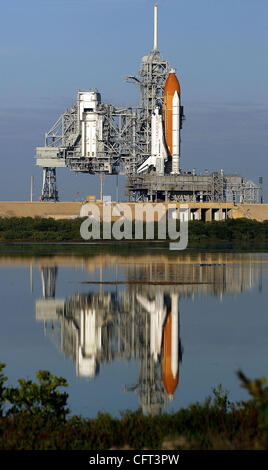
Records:
M0 254L9 384L49 370L94 417L177 410L219 384L247 399L236 371L268 377L268 254L33 253Z

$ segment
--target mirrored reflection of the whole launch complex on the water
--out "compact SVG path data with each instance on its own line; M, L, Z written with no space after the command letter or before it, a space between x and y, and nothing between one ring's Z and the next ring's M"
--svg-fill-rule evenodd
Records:
M65 300L54 298L57 268L41 268L43 299L36 301L36 318L44 321L46 334L75 362L78 376L94 377L102 363L137 360L137 383L125 390L137 392L145 413L158 413L179 381L179 298L240 293L261 280L254 259L235 263L215 254L199 263L188 261L185 257L177 264L148 260L127 264L125 277L130 284L124 290L103 292L102 286L99 293L74 294ZM174 279L185 284L161 285L162 280ZM159 280L159 285L150 280Z

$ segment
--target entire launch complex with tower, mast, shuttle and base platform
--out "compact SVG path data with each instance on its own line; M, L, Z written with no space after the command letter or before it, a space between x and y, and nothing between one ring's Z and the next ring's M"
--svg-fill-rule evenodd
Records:
M259 185L240 175L198 174L181 168L181 129L184 109L175 70L157 45L157 5L154 7L154 47L142 58L135 84L140 103L116 107L102 103L96 89L78 91L77 102L66 110L36 149L43 168L40 200L57 201L56 168L67 167L94 175L125 174L129 201L262 202Z

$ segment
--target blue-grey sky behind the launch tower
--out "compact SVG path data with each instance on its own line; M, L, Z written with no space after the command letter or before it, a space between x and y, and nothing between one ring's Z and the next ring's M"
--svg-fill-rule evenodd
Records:
M35 148L78 89L137 105L136 75L153 47L153 0L2 0L0 200L34 199ZM177 70L186 120L183 170L264 178L268 199L267 0L159 0L158 47ZM60 200L100 194L99 177L57 170ZM104 194L115 197L115 177ZM124 199L124 177L120 198Z

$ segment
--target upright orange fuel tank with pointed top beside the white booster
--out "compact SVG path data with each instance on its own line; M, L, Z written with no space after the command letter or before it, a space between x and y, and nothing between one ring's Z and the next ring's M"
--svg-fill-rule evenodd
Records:
M171 71L166 79L164 88L164 122L165 122L165 138L169 150L169 158L172 155L172 101L174 93L178 92L180 96L180 84L174 72Z

